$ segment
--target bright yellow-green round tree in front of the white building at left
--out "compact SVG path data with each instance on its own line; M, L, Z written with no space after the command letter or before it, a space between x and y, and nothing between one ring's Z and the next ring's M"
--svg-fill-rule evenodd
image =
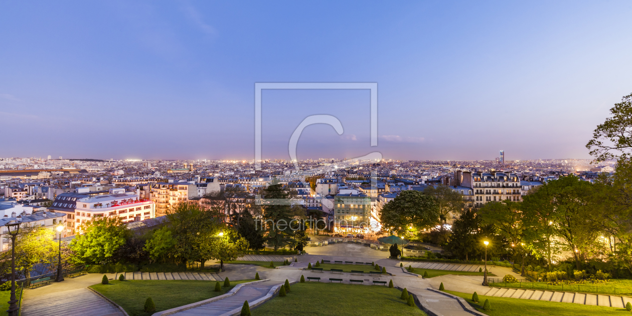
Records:
M112 262L114 254L128 237L120 217L97 217L82 225L85 233L77 235L70 246L87 264Z

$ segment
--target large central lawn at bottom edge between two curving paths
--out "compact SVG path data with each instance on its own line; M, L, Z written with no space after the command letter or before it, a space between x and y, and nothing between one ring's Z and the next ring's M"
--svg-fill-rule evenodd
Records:
M277 296L251 312L253 316L426 315L399 296L401 291L386 286L297 283L288 296Z

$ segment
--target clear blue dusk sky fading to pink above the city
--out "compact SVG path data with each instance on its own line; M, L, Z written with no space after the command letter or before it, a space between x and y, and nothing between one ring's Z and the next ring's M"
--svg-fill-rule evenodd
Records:
M630 1L0 0L0 157L589 159L632 93Z

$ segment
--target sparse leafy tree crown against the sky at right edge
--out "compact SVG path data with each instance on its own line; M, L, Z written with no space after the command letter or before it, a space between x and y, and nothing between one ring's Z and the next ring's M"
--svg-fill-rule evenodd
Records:
M610 109L611 118L598 125L586 148L595 157L595 162L608 159L632 158L632 94Z

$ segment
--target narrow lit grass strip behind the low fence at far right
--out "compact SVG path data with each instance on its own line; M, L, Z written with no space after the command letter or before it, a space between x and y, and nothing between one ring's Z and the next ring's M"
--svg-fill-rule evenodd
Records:
M522 288L522 289L549 289L552 291L567 291L581 293L596 293L632 296L632 280L612 279L606 283L586 283L586 284L563 284L549 285L546 282L523 282L523 283L490 283L490 286L502 288Z

